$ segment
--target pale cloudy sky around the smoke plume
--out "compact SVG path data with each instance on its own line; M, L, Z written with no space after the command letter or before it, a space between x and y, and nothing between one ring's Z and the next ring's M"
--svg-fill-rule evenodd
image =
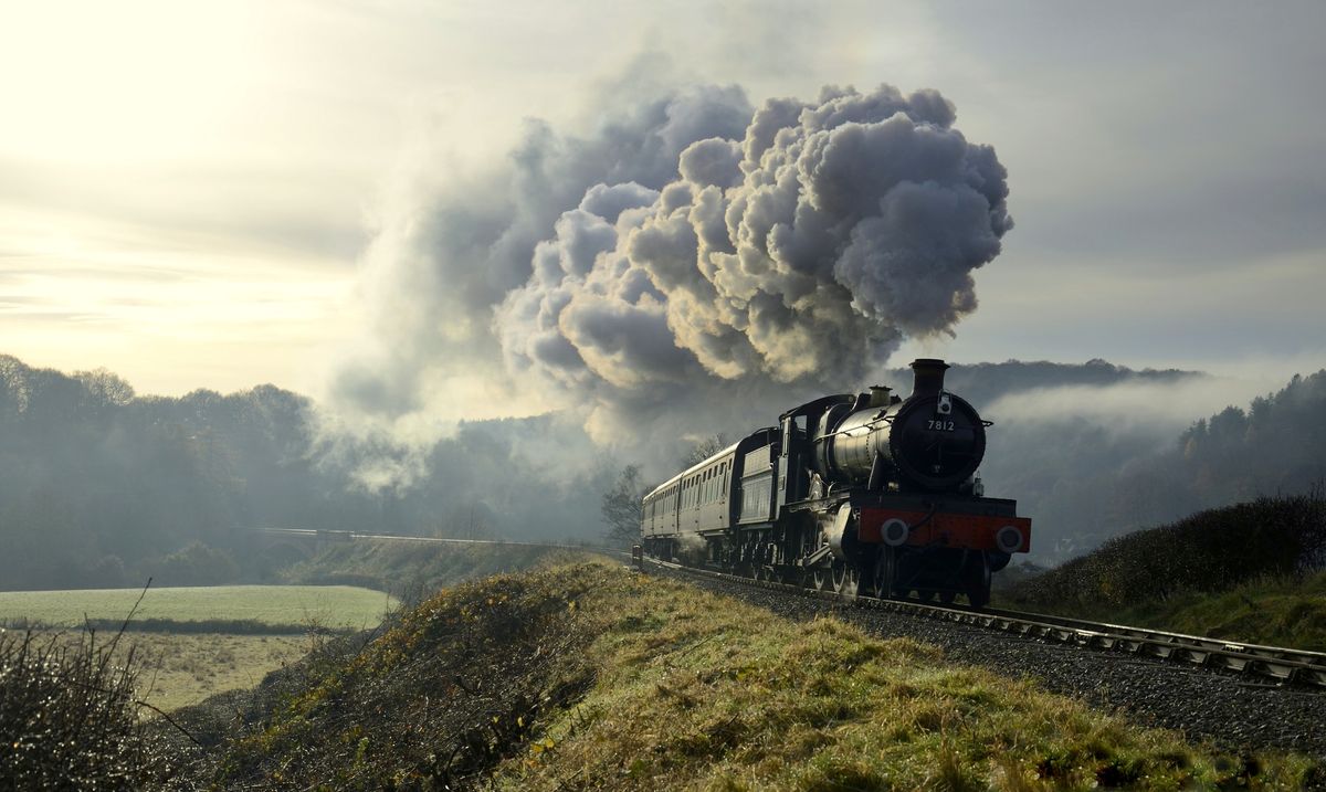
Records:
M715 5L7 0L0 352L139 392L334 395L411 313L381 283L419 253L391 229L491 179L530 119L589 135L670 86L758 107L888 83L952 102L1016 223L979 307L894 364L1326 366L1326 5ZM447 376L457 413L549 404Z

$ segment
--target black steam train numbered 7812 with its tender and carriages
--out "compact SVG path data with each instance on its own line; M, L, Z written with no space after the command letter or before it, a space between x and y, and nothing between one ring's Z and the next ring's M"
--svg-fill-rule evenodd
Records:
M1028 552L1032 520L984 497L985 428L944 389L943 360L912 392L825 396L778 416L642 501L663 559L857 595L989 601L991 573Z

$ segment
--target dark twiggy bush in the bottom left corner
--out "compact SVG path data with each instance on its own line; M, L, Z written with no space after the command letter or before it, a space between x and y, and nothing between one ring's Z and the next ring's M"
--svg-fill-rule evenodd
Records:
M172 775L164 743L138 719L133 650L115 641L0 630L0 788L141 789Z

